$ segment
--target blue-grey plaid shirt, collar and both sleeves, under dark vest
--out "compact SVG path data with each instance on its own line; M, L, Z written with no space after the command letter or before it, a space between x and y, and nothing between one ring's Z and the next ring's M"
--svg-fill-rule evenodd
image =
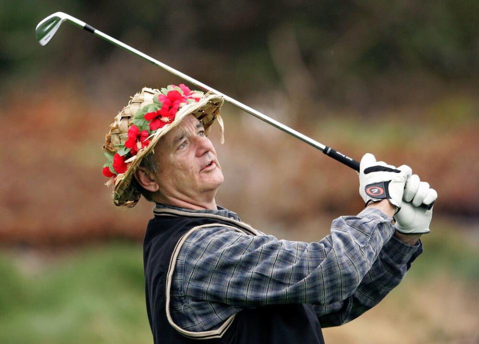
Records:
M181 210L240 221L221 207ZM393 237L391 220L366 208L335 219L330 234L313 243L221 226L200 229L177 257L170 290L173 320L187 331L208 331L243 308L308 303L322 327L347 323L396 287L423 251L421 242L412 247Z

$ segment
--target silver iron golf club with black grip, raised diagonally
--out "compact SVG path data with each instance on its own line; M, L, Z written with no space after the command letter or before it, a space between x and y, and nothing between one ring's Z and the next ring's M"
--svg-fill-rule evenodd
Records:
M72 24L74 24L75 26L78 26L80 28L83 28L84 30L87 30L88 32L91 32L93 33L94 35L97 35L101 38L103 38L104 40L110 42L110 43L113 43L125 50L128 50L132 53L134 53L135 55L138 55L140 57L143 57L145 60L169 71L170 73L182 78L183 80L186 80L188 81L189 83L203 89L203 90L206 90L206 91L211 91L211 92L214 92L216 94L219 94L221 95L227 102L239 107L241 110L244 110L246 111L247 113L265 121L266 123L269 123L273 126L275 126L276 128L300 139L301 141L304 141L308 144L310 144L311 146L321 150L324 154L326 154L327 156L351 167L352 169L356 170L359 172L359 162L350 158L349 156L346 156L334 149L332 149L331 147L328 147L328 146L325 146L323 145L322 143L319 143L309 137L307 137L306 135L303 135L301 134L300 132L266 116L265 114L259 112L259 111L256 111L255 109L247 106L247 105L244 105L243 103L240 103L238 100L236 99L233 99L232 97L229 97L228 95L222 93L222 92L219 92L217 91L216 89L214 89L213 87L210 87L208 85L205 85L204 83L180 72L179 70L176 70L168 65L166 65L165 63L163 62L160 62L156 59L154 59L153 57L150 57L146 54L144 54L143 52L123 43L123 42L120 42L119 40L95 29L94 27L88 25L87 23L77 19L77 18L74 18L72 17L71 15L68 15L66 13L63 13L63 12L56 12L56 13L53 13L49 16L47 16L45 19L41 20L38 25L36 25L36 28L35 28L35 36L36 36L36 39L38 40L38 42L41 44L41 45L46 45L48 44L48 42L51 40L51 38L55 35L56 31L58 30L58 28L60 27L61 23L63 21L68 21Z

